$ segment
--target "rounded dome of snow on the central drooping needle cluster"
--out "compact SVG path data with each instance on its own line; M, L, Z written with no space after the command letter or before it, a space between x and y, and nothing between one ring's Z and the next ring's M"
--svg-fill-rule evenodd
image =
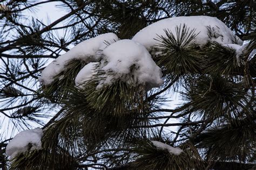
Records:
M97 89L109 86L116 80L127 84L143 84L147 88L158 87L163 83L160 68L147 49L138 42L119 40L106 47L102 54L100 70L105 75Z

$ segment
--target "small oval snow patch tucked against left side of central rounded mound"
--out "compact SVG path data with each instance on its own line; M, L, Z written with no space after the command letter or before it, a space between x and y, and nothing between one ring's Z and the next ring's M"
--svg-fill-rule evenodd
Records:
M80 70L75 79L77 87L84 86L87 81L92 79L93 75L96 74L95 69L98 64L99 62L90 62Z

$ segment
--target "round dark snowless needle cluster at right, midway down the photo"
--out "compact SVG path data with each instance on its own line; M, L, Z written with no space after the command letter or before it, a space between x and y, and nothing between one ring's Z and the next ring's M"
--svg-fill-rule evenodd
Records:
M220 75L202 75L193 77L185 88L181 95L194 115L220 121L223 117L241 117L241 111L248 114L251 93L243 82L233 82Z

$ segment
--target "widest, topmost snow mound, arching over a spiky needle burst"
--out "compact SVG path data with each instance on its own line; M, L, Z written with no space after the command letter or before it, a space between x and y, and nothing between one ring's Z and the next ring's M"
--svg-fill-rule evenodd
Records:
M170 30L174 36L176 36L176 26L183 26L196 29L195 33L199 33L195 40L200 46L204 46L208 41L216 41L220 44L233 44L235 42L235 36L228 27L221 22L218 18L208 16L190 16L190 17L173 17L160 20L153 23L144 29L140 30L132 40L144 45L149 51L159 44L159 41L155 40L158 36L166 37L164 29ZM208 27L208 28L207 28ZM211 36L208 29L211 30ZM158 35L158 36L157 36ZM238 44L242 45L242 40L236 37Z

